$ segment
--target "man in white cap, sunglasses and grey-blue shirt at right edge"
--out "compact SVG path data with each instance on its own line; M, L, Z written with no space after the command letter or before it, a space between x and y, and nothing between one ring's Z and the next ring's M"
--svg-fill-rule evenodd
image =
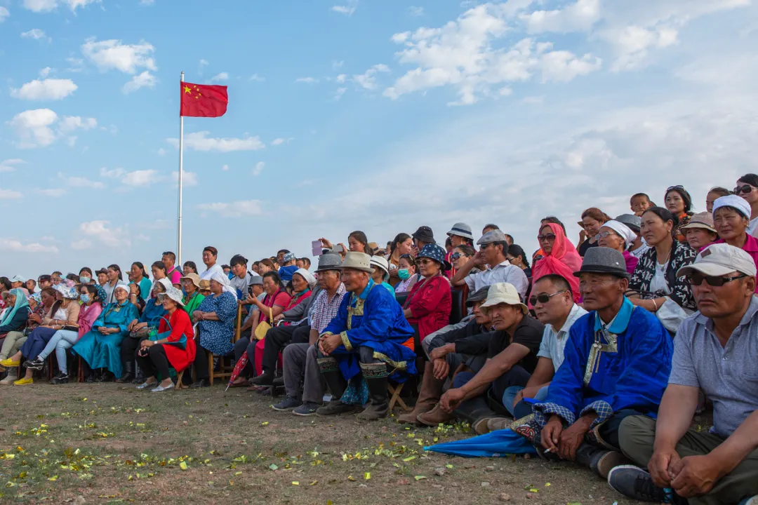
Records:
M691 284L699 312L676 333L657 420L621 423L621 449L640 467L615 468L608 482L656 503L758 503L755 263L740 248L714 244L677 275ZM713 401L708 432L690 429L700 390Z

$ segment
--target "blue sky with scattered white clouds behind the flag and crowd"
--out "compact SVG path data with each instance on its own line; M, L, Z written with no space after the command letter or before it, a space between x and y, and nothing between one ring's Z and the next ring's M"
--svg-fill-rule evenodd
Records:
M183 259L354 229L386 242L662 202L755 172L750 0L0 0L0 270L36 276L176 248L178 86L229 86L185 121Z

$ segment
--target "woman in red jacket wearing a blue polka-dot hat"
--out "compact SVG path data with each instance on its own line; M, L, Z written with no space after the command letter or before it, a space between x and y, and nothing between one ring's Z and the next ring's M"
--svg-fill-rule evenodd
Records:
M416 258L422 280L413 285L403 313L412 326L418 328L419 343L424 337L449 324L453 297L450 282L442 275L449 270L445 250L436 244L424 245Z

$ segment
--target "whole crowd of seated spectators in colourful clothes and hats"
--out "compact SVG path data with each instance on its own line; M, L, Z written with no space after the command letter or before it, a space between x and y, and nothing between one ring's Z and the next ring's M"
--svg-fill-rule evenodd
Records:
M681 185L660 196L587 208L577 245L545 217L531 256L459 222L444 245L429 226L386 248L321 238L313 271L289 249L225 264L208 246L204 269L165 251L0 277L0 385L76 369L158 394L208 387L226 360L228 387L283 391L278 412L368 422L405 398L398 422L510 429L630 498L755 504L758 176L714 187L701 213ZM691 429L707 403L713 428Z

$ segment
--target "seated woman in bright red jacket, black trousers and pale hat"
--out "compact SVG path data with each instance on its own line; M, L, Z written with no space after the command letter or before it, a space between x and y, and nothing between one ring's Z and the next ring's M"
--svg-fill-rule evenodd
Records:
M169 375L168 366L177 371L177 376L195 360L195 340L193 338L192 322L189 314L181 309L183 307L182 292L174 286L166 289L165 293L158 295L166 315L161 317L158 326L158 335L146 338L140 342L136 359L139 367L148 376L145 382L137 386L137 389L146 389L156 386L150 391L160 393L174 388L174 382ZM155 378L155 372L161 374L161 381Z

